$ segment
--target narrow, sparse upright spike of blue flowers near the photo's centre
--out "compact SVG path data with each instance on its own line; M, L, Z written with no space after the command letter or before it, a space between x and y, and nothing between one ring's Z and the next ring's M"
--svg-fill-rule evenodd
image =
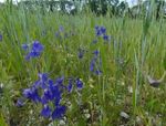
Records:
M90 63L90 71L96 75L101 75L102 74L101 70L102 70L102 60L101 60L100 51L95 50L93 52L93 59L91 60Z

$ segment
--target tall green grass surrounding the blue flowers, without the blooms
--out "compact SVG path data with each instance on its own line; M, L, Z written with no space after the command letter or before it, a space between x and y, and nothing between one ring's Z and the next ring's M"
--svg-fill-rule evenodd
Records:
M38 73L48 72L51 76L79 76L84 82L82 95L69 97L72 104L66 113L69 126L166 125L166 83L164 81L154 88L142 74L146 72L159 78L165 72L164 19L156 21L151 13L143 20L125 15L95 17L93 13L43 14L40 9L31 12L23 6L15 9L10 4L0 13L0 33L3 35L0 42L1 122L4 119L11 126L49 124L39 116L41 106L30 102L21 108L15 106L22 90L38 80ZM56 36L61 25L64 31ZM98 39L92 44L96 39L95 25L106 28L110 42ZM27 62L21 45L34 40L44 45L44 52L39 59ZM86 51L82 60L77 57L80 48ZM102 57L103 73L100 76L90 72L92 52L96 49ZM81 101L81 105L76 101ZM84 109L89 109L90 118L84 116ZM122 117L121 112L127 113L129 118Z

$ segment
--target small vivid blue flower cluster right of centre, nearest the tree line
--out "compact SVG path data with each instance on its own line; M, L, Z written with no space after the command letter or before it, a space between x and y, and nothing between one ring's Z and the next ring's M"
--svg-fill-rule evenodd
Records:
M106 29L104 27L95 27L95 35L102 36L104 41L108 41L110 36L106 34Z

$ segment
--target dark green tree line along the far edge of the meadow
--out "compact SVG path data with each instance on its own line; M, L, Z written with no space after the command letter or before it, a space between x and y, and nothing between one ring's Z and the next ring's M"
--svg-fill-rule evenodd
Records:
M41 7L41 9L45 9L50 12L61 11L68 14L76 14L89 10L96 15L110 14L111 17L127 15L131 18L142 18L146 15L148 11L153 11L156 19L166 15L166 2L164 0L146 0L132 8L127 2L120 2L120 0L27 0L19 2L19 6L20 4L24 4L25 8L31 10L35 7Z

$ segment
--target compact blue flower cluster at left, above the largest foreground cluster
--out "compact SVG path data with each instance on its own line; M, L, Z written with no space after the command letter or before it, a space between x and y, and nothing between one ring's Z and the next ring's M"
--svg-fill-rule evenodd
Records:
M39 57L43 52L44 46L39 41L34 41L32 44L22 44L22 49L28 51L25 60L29 61L32 57Z

